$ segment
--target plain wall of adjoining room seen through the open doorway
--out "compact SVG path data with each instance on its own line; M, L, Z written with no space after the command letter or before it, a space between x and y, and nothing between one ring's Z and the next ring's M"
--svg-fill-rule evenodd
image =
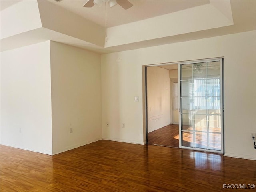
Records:
M169 70L147 68L148 132L171 123Z

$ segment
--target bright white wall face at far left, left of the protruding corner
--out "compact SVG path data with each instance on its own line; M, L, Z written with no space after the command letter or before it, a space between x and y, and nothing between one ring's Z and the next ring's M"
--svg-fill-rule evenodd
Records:
M49 41L1 52L1 144L52 154Z

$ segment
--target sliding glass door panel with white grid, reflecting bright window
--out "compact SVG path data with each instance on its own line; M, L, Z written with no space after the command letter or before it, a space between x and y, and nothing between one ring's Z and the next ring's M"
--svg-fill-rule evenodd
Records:
M223 152L222 59L179 65L180 147Z

